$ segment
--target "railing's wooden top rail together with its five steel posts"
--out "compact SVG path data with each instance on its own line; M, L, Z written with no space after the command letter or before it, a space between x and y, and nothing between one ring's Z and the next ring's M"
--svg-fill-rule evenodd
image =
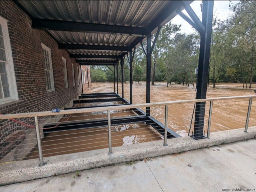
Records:
M208 99L191 99L191 100L180 100L180 101L168 101L168 102L158 102L158 103L144 103L144 104L131 104L131 105L119 105L119 106L109 106L109 107L96 107L96 108L85 108L85 109L71 109L71 110L61 110L59 113L52 113L51 111L45 112L32 112L32 113L19 113L19 114L7 114L0 115L0 119L13 119L13 118L24 118L24 117L34 117L35 120L35 129L36 129L36 138L37 138L37 147L39 152L39 165L43 166L43 153L42 153L42 145L40 138L40 131L38 125L38 116L51 116L51 115L63 115L63 114L75 114L75 113L88 113L88 112L97 112L97 111L107 111L108 112L108 147L109 154L112 154L112 144L111 144L111 110L118 109L131 109L131 108L141 108L141 107L156 107L156 106L165 106L165 126L164 126L164 146L168 146L167 144L167 117L168 117L168 105L172 104L185 104L185 103L197 103L197 102L206 102L210 101L210 109L209 109L209 119L208 119L208 129L207 129L207 138L210 139L210 128L211 128L211 116L212 116L212 106L213 101L219 100L229 100L229 99L246 99L249 98L249 106L247 111L247 118L245 123L245 130L247 132L250 111L252 105L252 98L256 97L256 95L246 95L246 96L232 96L232 97L216 97L216 98L208 98Z

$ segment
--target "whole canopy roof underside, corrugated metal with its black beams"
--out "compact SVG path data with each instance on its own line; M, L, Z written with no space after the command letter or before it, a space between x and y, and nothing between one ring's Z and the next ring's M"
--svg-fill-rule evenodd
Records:
M116 63L183 9L182 1L14 2L31 17L32 28L46 30L70 57L101 59L102 65Z

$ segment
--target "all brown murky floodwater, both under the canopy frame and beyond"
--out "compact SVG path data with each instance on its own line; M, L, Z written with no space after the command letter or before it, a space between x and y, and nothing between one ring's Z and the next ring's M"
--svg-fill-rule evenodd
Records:
M92 89L87 93L96 92L113 92L113 83L93 83ZM256 84L252 89L243 89L239 83L223 83L218 84L215 89L212 85L207 90L207 98L223 97L223 96L240 96L252 95ZM156 82L151 86L151 102L186 100L195 98L195 89L193 86L186 87L181 85L169 85L166 83ZM119 94L121 94L121 84L119 84ZM129 83L124 84L124 97L129 98ZM146 83L140 82L133 84L133 103L146 102ZM102 102L102 103L80 103L75 106L94 106L118 104L119 102ZM175 104L170 105L168 110L168 127L177 132L181 136L187 136L192 117L193 104ZM248 109L248 99L216 101L213 103L211 132L223 131L229 129L244 128L246 114ZM256 102L253 102L249 126L256 126ZM143 109L145 110L145 109ZM205 130L207 129L209 103L206 103ZM152 107L151 116L161 123L164 123L164 106ZM134 112L129 110L113 110L111 118L136 116ZM74 114L69 118L72 121L85 121L92 119L107 118L107 112L81 113ZM65 121L67 117L60 121ZM193 124L192 124L193 130ZM132 125L112 126L112 146L121 146L127 144L135 144L153 140L162 139L162 136L143 123ZM108 131L107 127L58 131L50 133L46 138L42 139L42 148L44 156L52 156L59 154L67 154L73 152L81 152L108 147ZM36 158L37 150L31 151L26 159Z

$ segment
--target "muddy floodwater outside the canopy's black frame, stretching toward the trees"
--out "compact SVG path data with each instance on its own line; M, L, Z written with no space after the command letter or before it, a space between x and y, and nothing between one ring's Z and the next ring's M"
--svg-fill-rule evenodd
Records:
M248 85L249 86L249 85ZM156 82L150 87L150 102L175 101L195 99L196 92L192 85L189 87L179 84L169 84L166 82ZM252 84L251 89L243 89L242 83L219 83L213 89L210 84L207 89L207 98L254 95L253 90L256 84ZM121 83L119 83L119 94L121 95ZM113 92L113 83L93 83L92 89L87 93ZM124 98L130 100L129 83L124 84ZM249 99L235 99L214 101L211 120L211 132L224 131L230 129L244 128ZM133 84L133 104L146 103L146 82ZM175 104L169 105L168 127L181 136L186 136L192 118L194 104ZM145 110L145 109L143 109ZM164 106L151 107L151 116L161 123L164 123ZM205 125L207 129L209 113L209 102L206 103ZM194 122L192 123L193 130ZM249 127L256 126L256 101L253 100Z

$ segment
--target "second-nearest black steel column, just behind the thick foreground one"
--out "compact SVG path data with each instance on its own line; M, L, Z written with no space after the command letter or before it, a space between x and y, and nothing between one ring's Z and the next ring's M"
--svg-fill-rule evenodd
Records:
M151 73L151 35L147 36L147 77L146 77L146 103L150 103L150 73ZM150 107L146 108L146 115L150 116Z

